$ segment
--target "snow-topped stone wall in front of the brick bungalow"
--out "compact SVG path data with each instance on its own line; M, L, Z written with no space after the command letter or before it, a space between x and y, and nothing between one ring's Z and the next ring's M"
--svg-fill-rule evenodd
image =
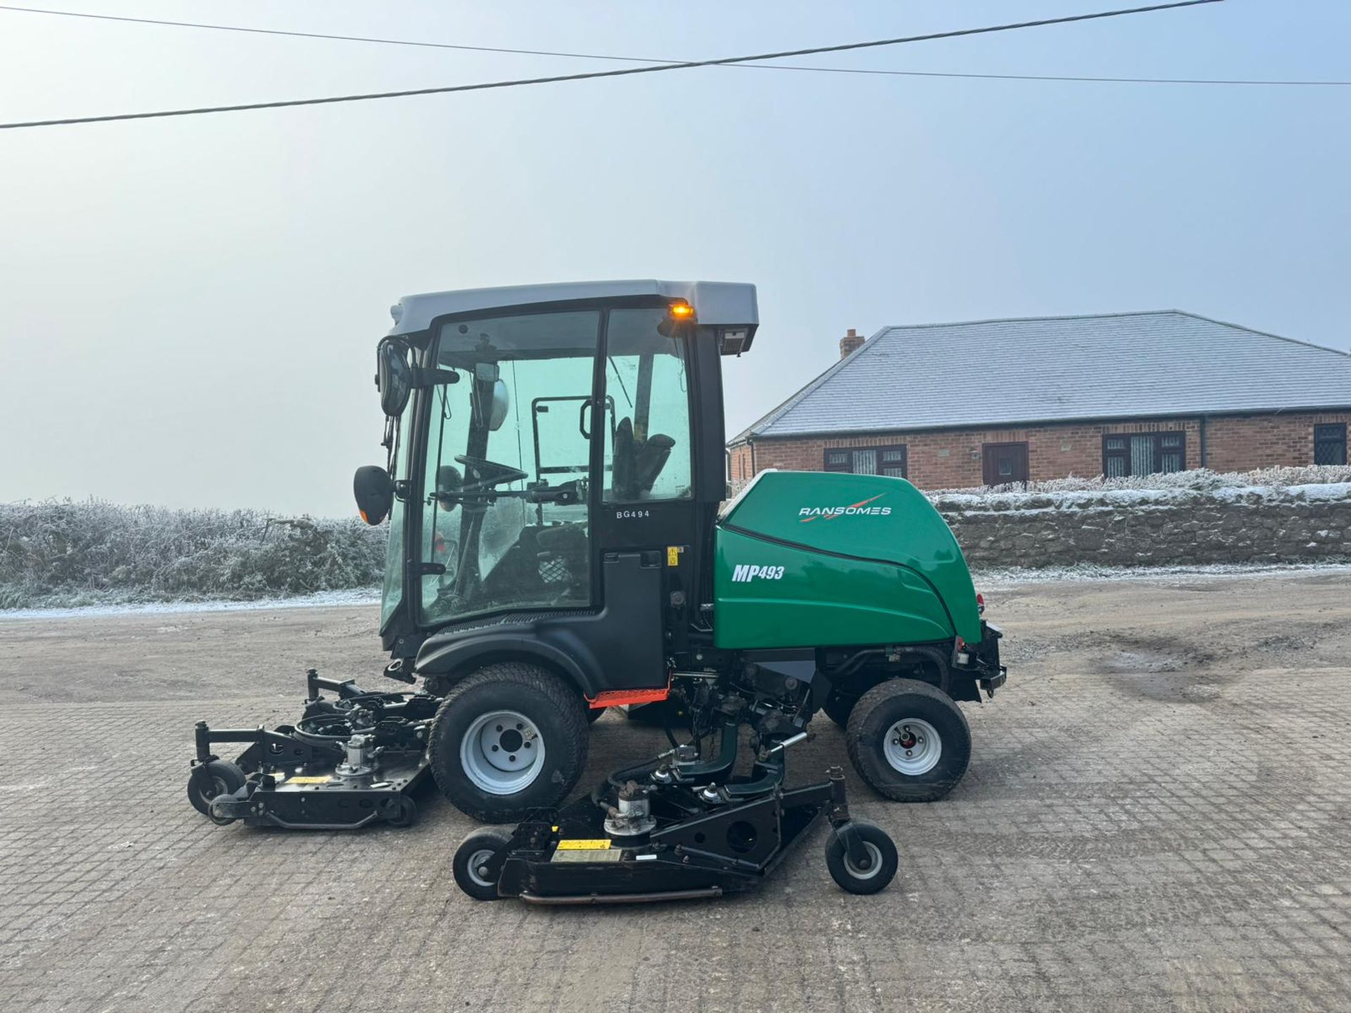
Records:
M974 569L1351 561L1351 484L939 494Z

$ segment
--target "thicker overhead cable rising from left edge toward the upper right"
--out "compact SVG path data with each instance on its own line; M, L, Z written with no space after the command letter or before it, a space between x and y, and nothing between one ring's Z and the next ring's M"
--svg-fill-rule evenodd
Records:
M929 32L927 35L908 35L894 39L875 39L871 42L847 42L838 46L813 46L809 49L782 50L778 53L757 53L748 57L724 57L721 59L697 59L676 63L648 63L636 68L620 68L617 70L592 70L580 74L554 74L550 77L527 77L509 81L482 81L467 85L447 85L442 88L413 88L399 92L370 92L366 95L340 95L324 99L288 99L270 103L243 103L239 105L207 105L189 109L162 109L157 112L123 112L109 116L70 116L54 120L31 120L27 123L0 123L0 130L23 130L28 127L65 127L78 123L112 123L119 120L162 119L168 116L201 116L213 112L245 112L251 109L280 109L295 105L331 105L335 103L372 101L376 99L407 99L417 95L449 95L451 92L481 92L490 88L521 88L526 85L559 84L563 81L589 81L603 77L627 77L634 74L654 74L663 70L692 70L694 68L727 66L750 63L765 59L784 59L786 57L805 57L816 53L844 53L861 49L878 49L882 46L901 46L911 42L931 42L935 39L955 39L967 35L989 35L1000 31L1015 31L1019 28L1040 28L1050 24L1070 24L1073 22L1092 22L1104 18L1121 18L1135 14L1150 14L1154 11L1173 11L1182 7L1200 7L1201 4L1223 3L1224 0L1177 0L1167 4L1151 4L1148 7L1129 7L1115 11L1094 11L1092 14L1067 15L1065 18L1043 18L1032 22L1016 22L1011 24L992 24L981 28L958 28L954 31Z

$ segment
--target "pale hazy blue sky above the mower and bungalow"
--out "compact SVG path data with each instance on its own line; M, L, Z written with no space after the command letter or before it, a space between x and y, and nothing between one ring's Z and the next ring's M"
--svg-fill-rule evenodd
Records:
M1113 5L62 4L676 59ZM1351 4L1228 0L794 62L1348 80ZM611 66L0 11L7 122ZM1347 348L1348 108L1351 88L721 68L4 131L0 501L351 512L353 469L382 459L374 342L411 292L753 281L730 434L835 361L847 327L1182 308Z

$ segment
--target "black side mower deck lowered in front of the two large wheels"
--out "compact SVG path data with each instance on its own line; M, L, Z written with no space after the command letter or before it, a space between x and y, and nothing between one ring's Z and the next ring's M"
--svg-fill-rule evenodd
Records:
M890 882L896 848L877 827L850 819L839 767L824 782L785 790L780 743L750 777L731 777L738 727L723 732L712 762L677 758L620 771L589 798L534 813L509 835L471 835L455 854L455 881L478 900L542 905L720 897L759 886L825 816L836 882L852 893Z

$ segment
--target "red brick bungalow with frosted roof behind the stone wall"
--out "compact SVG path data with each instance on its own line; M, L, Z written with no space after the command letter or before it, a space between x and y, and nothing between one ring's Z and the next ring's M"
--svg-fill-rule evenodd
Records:
M1178 311L852 330L728 444L921 489L1347 463L1351 355Z

